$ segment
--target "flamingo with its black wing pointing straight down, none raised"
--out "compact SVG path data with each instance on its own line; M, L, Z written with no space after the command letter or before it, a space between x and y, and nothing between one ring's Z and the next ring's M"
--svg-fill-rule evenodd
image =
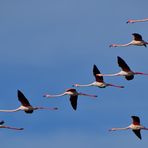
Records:
M76 89L74 89L74 88L67 89L62 94L58 94L58 95L45 94L45 95L43 95L43 97L53 98L53 97L60 97L60 96L65 96L65 95L70 95L70 103L71 103L71 106L74 110L77 109L77 100L78 100L79 95L93 97L93 98L97 97L96 95L90 95L90 94L84 94L81 92L77 92Z

